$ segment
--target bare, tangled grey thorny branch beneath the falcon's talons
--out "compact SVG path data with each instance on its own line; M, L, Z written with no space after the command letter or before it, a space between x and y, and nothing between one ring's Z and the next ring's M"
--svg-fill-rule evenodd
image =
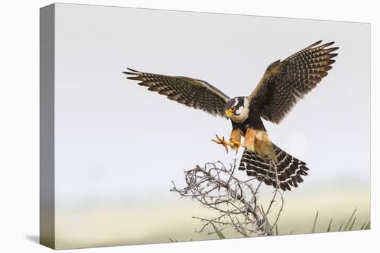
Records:
M179 189L173 182L172 192L180 196L190 197L205 208L216 210L213 218L193 216L202 221L203 225L197 232L205 231L206 227L214 227L213 232L234 229L243 236L265 236L274 234L276 223L283 210L283 194L276 189L267 210L258 202L261 183L254 181L255 177L241 180L236 177L236 161L227 168L222 162L206 163L204 168L199 165L193 170L185 171L187 187ZM254 182L257 185L254 186ZM268 214L274 212L279 201L274 222L269 223ZM217 230L215 230L215 227Z

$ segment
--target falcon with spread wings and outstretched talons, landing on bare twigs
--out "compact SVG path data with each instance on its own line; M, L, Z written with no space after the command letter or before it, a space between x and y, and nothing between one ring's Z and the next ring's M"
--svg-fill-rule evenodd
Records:
M204 110L213 115L231 120L230 139L216 135L213 140L225 147L245 150L240 159L239 170L256 176L260 182L281 190L291 190L303 182L307 175L306 163L296 159L269 139L262 119L280 123L298 99L302 99L331 70L338 48L334 42L321 45L318 41L292 54L287 59L274 61L265 70L263 77L247 97L230 99L213 85L190 77L173 77L151 74L128 68L123 72L128 79L140 81L148 90L167 96L188 107ZM241 139L244 137L244 142Z

